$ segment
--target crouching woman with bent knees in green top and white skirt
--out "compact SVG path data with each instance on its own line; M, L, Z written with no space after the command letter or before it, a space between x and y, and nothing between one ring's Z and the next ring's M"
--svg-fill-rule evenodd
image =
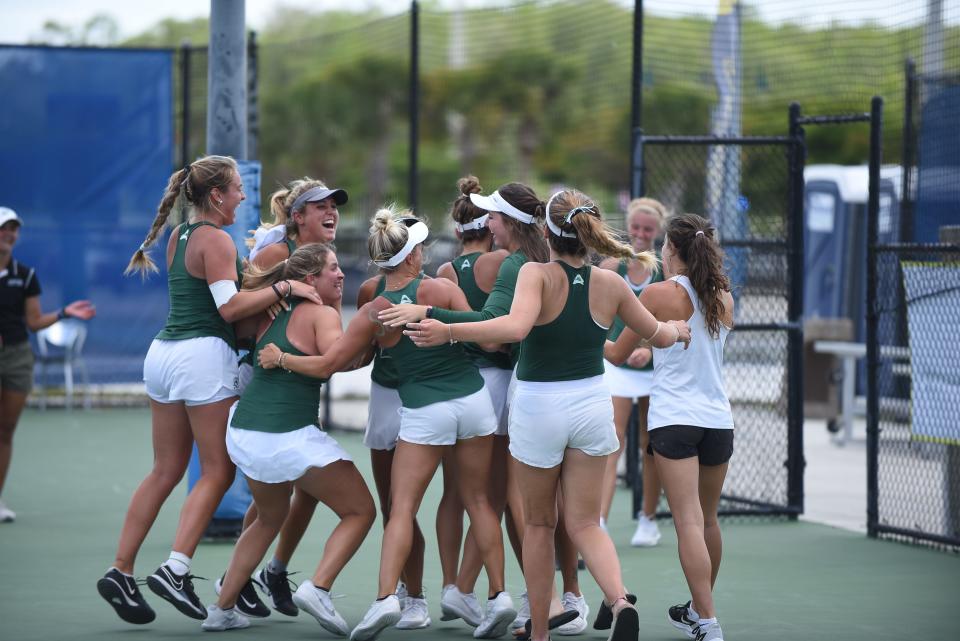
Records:
M343 272L329 245L311 243L269 270L248 268L244 287L272 287L283 279L303 280L316 289L324 305L294 302L275 320L258 319L257 346L276 343L293 354L322 354L343 333L339 302ZM247 527L223 579L216 605L208 608L205 630L229 630L249 625L234 610L250 573L270 543L286 527L294 488L322 501L340 517L327 538L317 570L300 584L293 601L320 625L338 636L349 632L333 607L330 589L356 553L373 524L373 497L350 456L317 424L317 401L324 381L282 370L256 367L240 401L231 408L227 451L247 477L256 505L256 518ZM239 608L238 608L239 609Z

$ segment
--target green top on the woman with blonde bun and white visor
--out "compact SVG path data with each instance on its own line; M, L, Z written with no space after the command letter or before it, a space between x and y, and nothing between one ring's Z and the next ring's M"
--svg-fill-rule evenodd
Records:
M417 302L415 278L402 289L381 295L393 304ZM480 371L467 357L461 343L436 347L417 347L401 336L393 347L384 349L393 360L400 384L397 392L404 407L416 409L441 401L463 398L483 389Z

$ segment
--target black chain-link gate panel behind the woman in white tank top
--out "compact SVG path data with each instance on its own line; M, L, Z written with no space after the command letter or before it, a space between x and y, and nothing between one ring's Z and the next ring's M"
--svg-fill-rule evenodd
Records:
M634 143L635 193L710 217L735 286L724 378L737 437L720 513L796 517L804 468L802 137L638 132ZM636 513L641 475L633 472Z

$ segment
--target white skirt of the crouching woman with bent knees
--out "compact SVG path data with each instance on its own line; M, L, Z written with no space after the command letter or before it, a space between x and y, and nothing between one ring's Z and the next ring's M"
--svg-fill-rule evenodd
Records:
M353 460L332 436L316 425L282 433L229 427L236 409L237 403L234 403L227 421L227 453L247 478L261 483L296 481L311 467Z

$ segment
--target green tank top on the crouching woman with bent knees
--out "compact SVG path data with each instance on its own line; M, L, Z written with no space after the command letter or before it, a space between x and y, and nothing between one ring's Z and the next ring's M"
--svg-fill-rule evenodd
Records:
M283 312L270 324L257 341L257 355L269 343L280 351L303 356L287 338L287 325L293 310L300 305L313 305L302 299L290 301L290 311ZM244 390L233 413L231 427L257 432L292 432L307 425L317 425L320 388L327 379L313 378L279 367L263 369L259 358L254 359L253 378Z

